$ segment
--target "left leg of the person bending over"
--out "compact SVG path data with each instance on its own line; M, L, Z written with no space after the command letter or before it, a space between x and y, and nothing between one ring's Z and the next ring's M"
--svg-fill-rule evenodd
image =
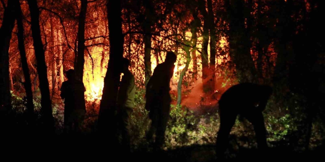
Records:
M225 151L228 145L228 136L232 126L235 124L237 112L229 111L227 107L220 110L220 128L217 133L216 155L217 158L224 158Z

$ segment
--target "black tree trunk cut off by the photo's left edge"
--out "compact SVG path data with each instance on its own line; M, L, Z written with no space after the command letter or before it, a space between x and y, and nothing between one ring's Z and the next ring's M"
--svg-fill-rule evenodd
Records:
M14 14L15 2L11 0L8 1L0 28L0 118L3 120L5 120L8 110L11 109L11 95L9 88L9 45L15 22L15 17L12 16Z

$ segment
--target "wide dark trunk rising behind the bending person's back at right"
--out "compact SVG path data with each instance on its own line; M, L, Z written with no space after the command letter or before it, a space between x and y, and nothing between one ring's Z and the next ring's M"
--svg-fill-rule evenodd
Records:
M248 1L247 6L241 0L230 1L225 1L226 11L229 14L229 54L232 62L236 65L238 81L240 83L255 82L257 72L251 55L252 43L250 40L251 1Z

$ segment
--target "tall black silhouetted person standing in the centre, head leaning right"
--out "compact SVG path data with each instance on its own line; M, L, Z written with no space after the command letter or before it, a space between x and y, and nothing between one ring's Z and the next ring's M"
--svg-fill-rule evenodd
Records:
M165 143L164 136L171 101L169 82L174 73L175 62L175 53L167 52L165 62L157 65L147 84L146 110L149 110L149 118L151 119L147 140L151 141L153 134L156 134L155 149L161 148Z

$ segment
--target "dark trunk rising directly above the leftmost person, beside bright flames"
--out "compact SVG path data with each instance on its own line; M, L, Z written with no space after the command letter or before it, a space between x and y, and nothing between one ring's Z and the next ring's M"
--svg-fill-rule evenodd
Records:
M85 64L85 19L87 12L87 0L81 0L81 9L79 14L78 25L78 55L77 64L74 65L77 79L83 81L84 64Z

